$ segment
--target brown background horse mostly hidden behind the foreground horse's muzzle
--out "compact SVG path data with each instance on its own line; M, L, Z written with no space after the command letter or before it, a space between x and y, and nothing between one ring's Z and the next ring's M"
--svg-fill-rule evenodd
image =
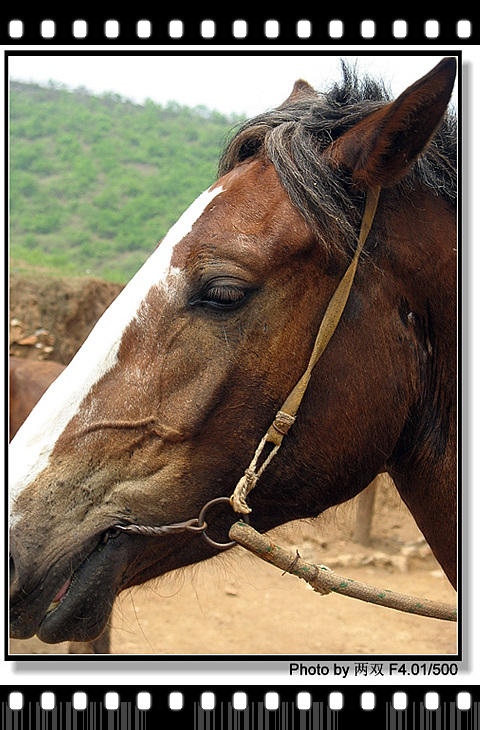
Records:
M12 439L45 391L65 370L53 360L26 360L9 357L9 436ZM94 641L72 642L69 654L109 654L110 627Z

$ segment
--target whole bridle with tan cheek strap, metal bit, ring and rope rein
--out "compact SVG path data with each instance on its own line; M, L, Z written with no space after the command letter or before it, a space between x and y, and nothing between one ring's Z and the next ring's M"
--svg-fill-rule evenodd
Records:
M370 188L367 192L365 210L353 259L330 299L327 309L325 310L325 314L323 315L315 338L315 344L313 346L313 351L310 356L307 369L295 387L290 391L281 409L277 412L270 428L260 441L250 465L245 470L244 475L235 487L232 496L212 499L202 508L197 518L187 520L186 522L179 522L176 525L147 527L144 525L130 524L116 525L114 529L134 534L155 536L188 531L200 533L206 542L217 550L225 550L237 544L242 545L253 555L256 555L262 560L266 560L268 563L282 569L284 571L283 575L288 572L296 575L297 577L303 578L315 591L319 593L325 594L330 591L334 591L369 603L388 606L400 611L406 611L407 613L456 621L457 611L455 606L450 606L440 601L431 601L423 598L419 599L417 596L393 593L390 590L380 590L375 586L369 586L364 583L352 581L351 578L338 576L324 565L318 566L306 563L301 558L298 550L296 556L293 557L285 550L275 545L275 543L269 540L265 535L257 532L248 524L245 524L248 523L248 514L252 511L247 505L246 498L255 487L259 478L271 463L274 456L278 453L284 437L295 423L297 411L305 395L308 383L310 382L313 368L330 342L330 339L343 314L352 288L355 273L357 271L360 254L362 253L365 241L367 240L372 227L379 196L379 187ZM272 449L259 466L260 457L267 444L271 444ZM221 503L229 504L235 512L242 515L240 520L235 522L229 530L230 542L225 543L216 542L207 535L208 523L205 519L205 515L210 507ZM299 565L300 563L301 565Z

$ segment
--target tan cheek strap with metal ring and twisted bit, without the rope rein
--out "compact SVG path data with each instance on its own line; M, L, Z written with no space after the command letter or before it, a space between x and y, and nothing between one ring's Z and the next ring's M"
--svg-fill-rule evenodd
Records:
M228 502L233 510L238 514L243 515L244 520L247 521L246 515L248 515L252 510L247 505L246 498L251 490L256 486L265 469L278 453L284 437L295 423L297 412L310 382L313 369L330 342L330 339L332 338L332 335L334 334L341 319L353 285L360 255L375 218L380 190L381 188L379 186L374 186L369 188L367 191L365 210L363 212L355 253L325 310L315 338L315 344L313 346L307 368L300 380L290 391L280 410L277 412L270 428L260 441L250 465L239 480L231 497L219 497L207 502L198 517L187 520L186 522L179 522L172 525L161 525L157 527L136 524L118 524L114 526L113 531L120 530L122 532L146 536L161 536L178 532L196 532L202 534L204 539L217 549L226 549L235 545L235 542L218 543L208 537L206 534L208 524L205 521L205 514L213 504ZM259 465L260 457L267 444L272 444L272 448L266 458L264 458L261 465Z

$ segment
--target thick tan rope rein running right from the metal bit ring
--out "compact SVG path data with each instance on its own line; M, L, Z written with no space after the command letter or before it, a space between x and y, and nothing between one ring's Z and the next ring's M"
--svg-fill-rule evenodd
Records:
M325 565L307 563L300 557L298 552L295 556L292 555L287 550L275 545L269 537L261 535L244 522L235 522L230 528L229 537L242 547L250 550L257 557L275 565L285 573L296 575L297 578L303 578L318 593L339 593L342 596L357 598L360 601L375 603L386 608L394 608L397 611L414 613L418 616L428 616L429 618L438 618L444 621L457 620L455 606L441 601L431 601L428 598L417 598L403 593L395 593L394 591L360 583L351 578L344 578Z

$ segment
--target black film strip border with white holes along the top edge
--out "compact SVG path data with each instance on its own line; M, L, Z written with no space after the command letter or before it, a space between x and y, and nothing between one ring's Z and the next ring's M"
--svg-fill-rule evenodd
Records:
M316 13L288 16L275 13L274 17L255 13L255 17L244 19L228 14L222 8L219 18L202 16L191 12L184 18L172 14L164 17L157 13L152 18L140 16L113 17L102 15L101 8L91 19L84 15L40 14L29 7L22 17L18 8L9 9L10 17L3 20L0 35L3 44L476 44L480 39L480 21L465 16L463 8L458 15L451 8L439 8L427 14L418 7L415 17L406 18L408 13L401 9L395 15L381 8L378 18L375 13L361 14L349 8L344 18L341 13L331 17ZM437 12L439 10L439 12ZM4 11L5 12L5 11ZM55 13L53 14L55 16ZM373 16L373 17L372 17Z

